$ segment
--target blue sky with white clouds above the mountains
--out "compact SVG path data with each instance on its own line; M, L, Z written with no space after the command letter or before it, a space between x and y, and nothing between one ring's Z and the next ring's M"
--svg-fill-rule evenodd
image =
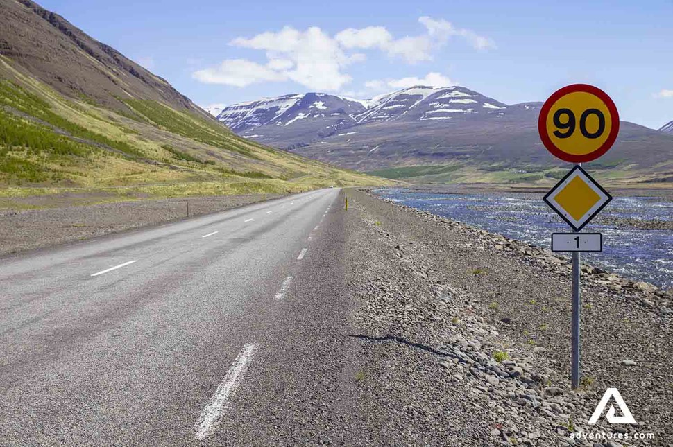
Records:
M577 82L673 120L673 1L42 0L202 107L463 85L513 104Z

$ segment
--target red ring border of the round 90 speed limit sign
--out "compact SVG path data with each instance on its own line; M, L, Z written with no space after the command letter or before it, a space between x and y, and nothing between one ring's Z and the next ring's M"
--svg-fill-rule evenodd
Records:
M606 141L598 149L584 155L572 155L568 154L568 152L563 152L563 150L557 148L554 145L552 139L550 139L549 135L547 135L547 115L549 114L550 109L552 109L552 105L554 105L554 103L556 103L556 101L559 100L561 96L565 96L576 91L583 91L585 93L598 96L608 107L612 121L608 139L606 139ZM542 109L540 109L540 116L538 117L538 132L540 132L540 139L542 139L545 148L547 148L547 150L550 151L554 157L560 158L563 161L570 161L570 163L586 163L587 161L595 160L601 155L604 155L604 153L608 152L608 150L615 143L617 134L620 132L620 115L619 112L617 112L617 106L615 103L613 103L613 100L610 98L610 96L608 96L606 92L602 91L598 87L588 84L567 85L562 89L554 91L554 94L552 94L552 96L550 96L549 99L545 101Z

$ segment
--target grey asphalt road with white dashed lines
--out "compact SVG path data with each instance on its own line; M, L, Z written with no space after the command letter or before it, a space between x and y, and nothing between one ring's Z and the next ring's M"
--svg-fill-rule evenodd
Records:
M344 444L339 190L0 261L0 445Z

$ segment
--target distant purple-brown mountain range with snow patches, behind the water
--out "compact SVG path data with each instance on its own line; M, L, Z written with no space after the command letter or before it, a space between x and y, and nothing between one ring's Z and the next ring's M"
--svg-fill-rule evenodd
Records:
M246 139L388 177L422 173L423 181L550 182L567 166L540 142L543 103L506 105L466 87L418 86L370 100L330 96L334 109L318 111L312 103L323 96L232 105L219 120ZM343 101L351 108L337 105ZM250 114L238 114L242 109ZM605 170L615 182L657 181L673 174L672 152L673 134L622 121L615 146L588 168ZM437 168L426 167L437 165L443 166L440 172L427 175Z

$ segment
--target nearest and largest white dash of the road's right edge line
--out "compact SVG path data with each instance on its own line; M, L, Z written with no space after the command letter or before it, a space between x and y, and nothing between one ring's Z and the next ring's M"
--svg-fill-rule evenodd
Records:
M194 439L205 439L212 434L214 428L220 423L224 412L229 407L229 398L235 391L239 378L247 371L248 365L255 356L255 351L257 351L255 344L246 344L236 357L229 371L227 371L227 375L217 387L215 394L212 395L198 420L194 423L194 430L196 430Z

